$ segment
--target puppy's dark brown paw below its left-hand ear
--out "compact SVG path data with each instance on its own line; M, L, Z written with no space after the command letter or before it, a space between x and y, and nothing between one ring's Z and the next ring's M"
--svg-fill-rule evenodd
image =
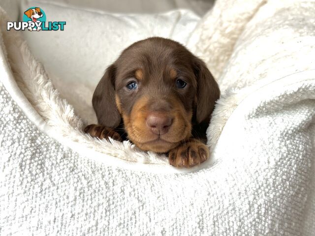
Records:
M111 137L112 139L122 141L119 133L115 130L99 125L99 124L90 124L85 127L84 132L90 134L92 137L96 137L99 139L107 139Z

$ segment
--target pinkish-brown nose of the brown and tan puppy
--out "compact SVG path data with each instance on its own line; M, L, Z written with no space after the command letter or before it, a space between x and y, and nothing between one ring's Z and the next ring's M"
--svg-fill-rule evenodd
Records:
M172 122L171 117L159 113L151 113L147 117L147 125L155 134L167 133Z

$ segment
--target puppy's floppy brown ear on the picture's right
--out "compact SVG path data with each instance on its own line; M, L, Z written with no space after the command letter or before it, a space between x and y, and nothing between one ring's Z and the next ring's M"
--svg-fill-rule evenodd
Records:
M201 59L195 58L193 68L197 78L196 120L197 123L209 122L215 102L220 97L220 89Z

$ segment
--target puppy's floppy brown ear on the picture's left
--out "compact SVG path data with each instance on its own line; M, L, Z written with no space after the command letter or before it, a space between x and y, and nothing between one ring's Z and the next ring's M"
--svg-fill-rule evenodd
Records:
M92 99L98 123L110 128L116 128L121 121L115 102L115 73L116 66L114 64L106 69Z

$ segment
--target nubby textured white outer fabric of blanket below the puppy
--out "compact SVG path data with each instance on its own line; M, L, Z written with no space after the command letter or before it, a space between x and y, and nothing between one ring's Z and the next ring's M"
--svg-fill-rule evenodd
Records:
M314 83L299 87L314 96ZM290 97L254 110L247 99L213 166L161 175L80 156L38 131L1 87L0 235L311 236L315 102Z

